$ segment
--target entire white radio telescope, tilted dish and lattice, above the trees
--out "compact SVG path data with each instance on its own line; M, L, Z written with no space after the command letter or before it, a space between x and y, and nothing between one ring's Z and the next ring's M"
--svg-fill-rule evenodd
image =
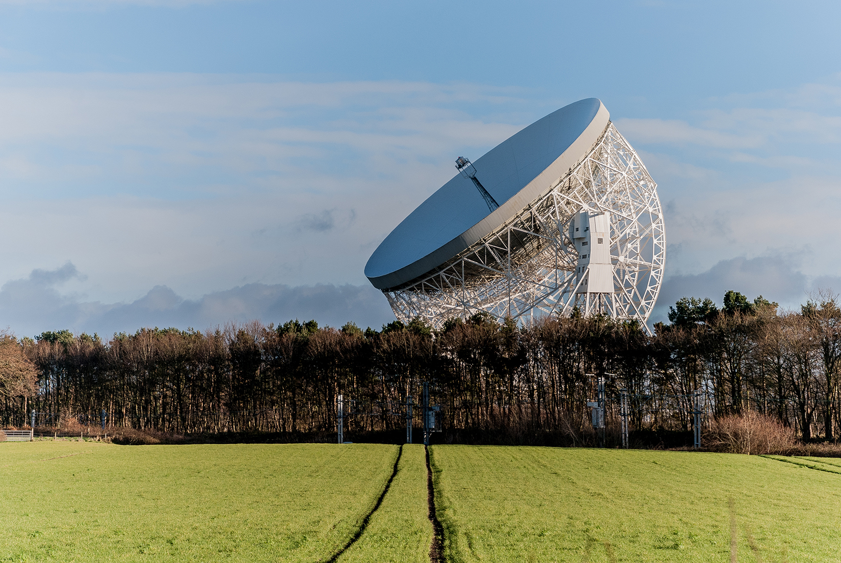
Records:
M365 275L402 321L607 314L648 320L666 237L657 185L588 98L489 150L387 236Z

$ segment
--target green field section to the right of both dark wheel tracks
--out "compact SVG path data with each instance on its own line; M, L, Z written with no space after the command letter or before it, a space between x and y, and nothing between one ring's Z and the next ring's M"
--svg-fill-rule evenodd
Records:
M827 471L669 451L431 453L450 561L841 561L841 476Z

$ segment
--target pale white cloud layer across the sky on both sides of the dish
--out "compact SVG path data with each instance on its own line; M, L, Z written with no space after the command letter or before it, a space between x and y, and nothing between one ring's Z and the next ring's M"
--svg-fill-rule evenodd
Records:
M686 119L618 119L659 182L669 276L769 249L800 255L804 276L841 275L841 249L820 242L841 235L841 178L836 157L814 150L814 139L837 142L838 105L822 115L790 93L763 98L765 109L728 100ZM69 277L47 302L73 327L111 310L97 303L135 303L149 287L185 303L230 287L364 287L368 256L453 176L455 155L475 158L540 117L543 102L523 95L474 84L0 74L0 280L71 260L87 278Z

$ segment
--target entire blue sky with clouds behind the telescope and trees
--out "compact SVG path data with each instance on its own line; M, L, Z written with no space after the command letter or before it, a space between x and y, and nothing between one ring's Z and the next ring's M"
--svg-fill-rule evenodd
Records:
M391 318L362 274L452 176L600 97L667 280L841 291L834 3L0 0L0 325Z

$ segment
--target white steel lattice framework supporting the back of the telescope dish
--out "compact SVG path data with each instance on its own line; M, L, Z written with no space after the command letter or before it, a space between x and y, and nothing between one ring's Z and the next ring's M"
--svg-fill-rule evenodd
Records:
M577 213L610 213L613 292L587 292L568 225ZM666 236L657 185L609 123L590 152L520 213L476 244L401 287L383 290L404 322L488 312L500 321L549 313L651 314L663 281ZM585 266L586 267L586 266Z

